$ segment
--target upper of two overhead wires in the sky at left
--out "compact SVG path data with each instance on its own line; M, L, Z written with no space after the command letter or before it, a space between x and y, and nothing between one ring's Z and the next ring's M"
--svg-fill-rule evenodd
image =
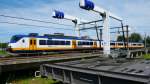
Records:
M29 18L23 18L23 17L15 17L15 16L8 16L8 15L0 15L0 16L1 17L7 17L7 18L15 18L15 19L28 20L28 21L36 21L36 22L42 22L42 23L58 24L58 25L63 25L63 26L73 26L73 25L55 23L55 22L50 22L50 21L42 21L42 20L36 20L36 19L29 19Z

